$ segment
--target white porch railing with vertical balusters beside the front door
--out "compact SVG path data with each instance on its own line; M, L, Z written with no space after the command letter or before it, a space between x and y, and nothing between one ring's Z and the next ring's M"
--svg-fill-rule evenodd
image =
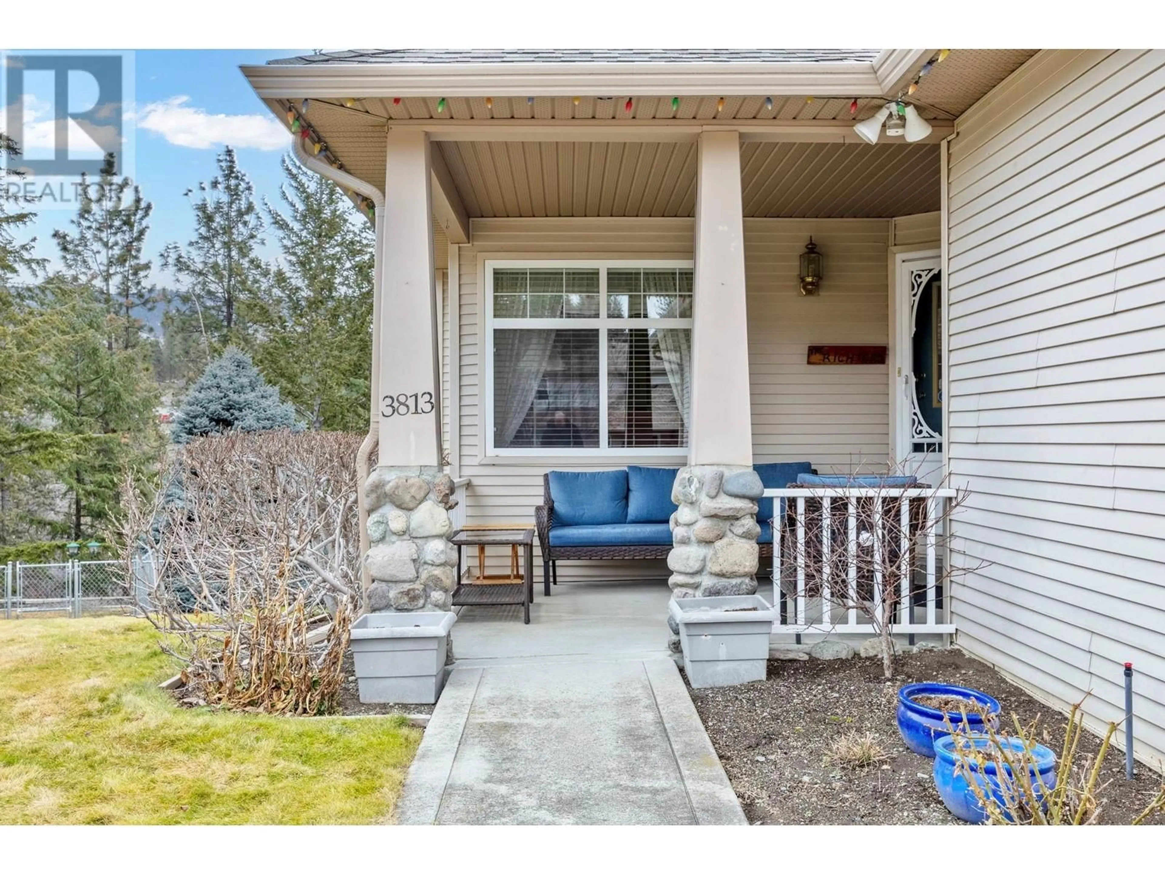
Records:
M953 634L939 538L955 494L927 487L767 488L776 515L772 633L873 635L870 613L882 616L889 606L892 634ZM885 517L888 512L898 517Z

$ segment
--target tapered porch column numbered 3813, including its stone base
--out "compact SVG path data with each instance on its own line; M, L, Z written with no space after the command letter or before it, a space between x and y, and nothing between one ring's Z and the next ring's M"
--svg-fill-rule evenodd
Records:
M384 232L373 330L376 470L365 484L369 611L450 609L457 552L447 542L453 480L442 467L440 361L432 246L430 145L389 129Z

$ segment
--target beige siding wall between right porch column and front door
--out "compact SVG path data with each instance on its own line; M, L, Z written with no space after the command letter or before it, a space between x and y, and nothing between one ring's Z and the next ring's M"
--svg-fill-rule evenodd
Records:
M812 461L821 473L885 467L885 365L809 365L810 345L884 345L887 219L744 219L748 354L756 461ZM810 235L820 294L800 294Z

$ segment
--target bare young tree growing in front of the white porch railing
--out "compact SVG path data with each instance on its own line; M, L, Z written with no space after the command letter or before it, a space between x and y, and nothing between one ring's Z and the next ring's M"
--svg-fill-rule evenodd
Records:
M861 496L848 485L809 487L798 526L797 499L785 499L781 523L781 591L786 599L818 599L821 625L835 626L834 609L856 611L881 643L882 671L894 675L894 626L910 614L915 598L926 595L926 556L933 545L933 586L951 597L952 580L976 571L942 561L951 540L951 519L967 500L966 489L952 489L945 499L929 493L949 489L949 479L913 488L924 494L903 495L889 485L904 475L891 467L870 478ZM800 588L798 569L804 569ZM800 591L798 592L798 590Z

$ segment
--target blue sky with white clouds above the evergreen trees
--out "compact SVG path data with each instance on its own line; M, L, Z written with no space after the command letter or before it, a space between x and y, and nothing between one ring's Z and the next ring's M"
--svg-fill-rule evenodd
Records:
M261 64L271 58L308 54L304 49L281 50L140 50L133 52L134 148L132 169L147 200L154 204L146 254L154 262L153 281L165 275L158 254L169 242L185 244L193 235L193 211L186 189L209 182L216 174L216 156L224 146L236 149L239 164L255 186L256 199L278 202L283 181L280 158L290 134L267 110L239 72L240 64ZM26 98L27 157L47 156L37 143L51 127L51 85L28 89ZM94 86L96 90L96 86ZM128 98L128 96L127 96ZM73 99L72 89L70 100ZM80 94L84 99L84 93ZM128 101L128 100L127 100ZM29 106L31 104L31 106ZM0 129L3 117L0 115ZM77 156L84 150L73 153ZM93 154L97 154L96 147ZM35 207L34 207L35 209ZM41 210L23 235L37 238L37 254L59 266L52 231L69 228L72 213ZM17 232L20 233L20 232ZM264 256L274 258L268 246Z

